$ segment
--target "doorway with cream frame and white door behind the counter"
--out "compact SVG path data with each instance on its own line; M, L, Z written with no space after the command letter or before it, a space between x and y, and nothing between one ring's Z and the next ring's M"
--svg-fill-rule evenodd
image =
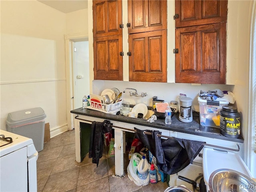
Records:
M70 111L82 107L83 96L90 93L88 34L65 35L65 44L67 124L72 130L74 114Z

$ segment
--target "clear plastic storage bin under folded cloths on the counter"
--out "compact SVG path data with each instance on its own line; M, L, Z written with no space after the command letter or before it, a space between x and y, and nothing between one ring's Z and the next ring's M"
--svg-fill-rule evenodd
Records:
M200 125L220 128L220 110L228 101L208 101L198 97Z

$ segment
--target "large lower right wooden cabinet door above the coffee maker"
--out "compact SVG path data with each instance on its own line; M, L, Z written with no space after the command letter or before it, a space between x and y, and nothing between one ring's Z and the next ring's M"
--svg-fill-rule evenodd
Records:
M225 84L226 22L176 28L175 82Z

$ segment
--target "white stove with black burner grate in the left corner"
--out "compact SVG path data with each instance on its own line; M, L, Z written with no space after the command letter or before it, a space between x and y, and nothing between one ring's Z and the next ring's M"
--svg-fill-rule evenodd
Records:
M38 152L33 140L4 130L0 135L0 192L36 192Z

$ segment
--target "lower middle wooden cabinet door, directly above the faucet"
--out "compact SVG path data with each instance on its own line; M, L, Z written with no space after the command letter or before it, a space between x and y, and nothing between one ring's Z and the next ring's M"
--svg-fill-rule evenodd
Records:
M129 80L167 82L166 31L129 35Z

